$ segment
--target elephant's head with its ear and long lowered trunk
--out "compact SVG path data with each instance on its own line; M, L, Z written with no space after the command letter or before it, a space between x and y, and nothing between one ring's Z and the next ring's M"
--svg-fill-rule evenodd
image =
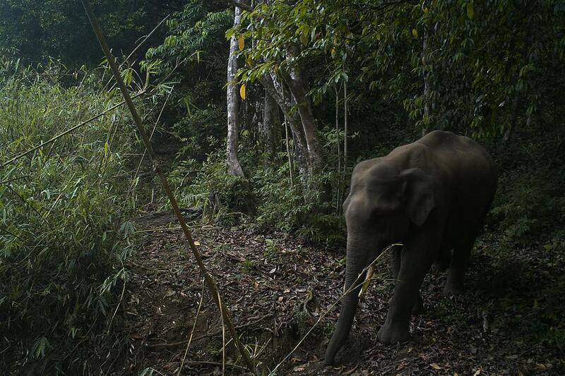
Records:
M435 207L432 178L422 169L400 170L373 159L358 164L351 181L350 195L343 204L347 222L345 291L351 291L343 297L326 364L333 363L350 332L364 279L360 274L387 245L405 241L411 226L424 224Z

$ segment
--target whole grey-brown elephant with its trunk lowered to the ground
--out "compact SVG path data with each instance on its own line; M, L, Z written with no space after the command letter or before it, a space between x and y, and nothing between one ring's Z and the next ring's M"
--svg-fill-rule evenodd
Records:
M345 289L383 248L391 250L396 280L383 344L409 339L412 311L422 302L420 286L436 263L448 270L446 293L463 292L463 277L475 238L496 191L496 166L477 142L451 132L433 131L397 147L386 157L355 166L343 204L347 222ZM451 253L453 250L453 253ZM332 364L350 332L360 287L343 298L338 323L326 350Z

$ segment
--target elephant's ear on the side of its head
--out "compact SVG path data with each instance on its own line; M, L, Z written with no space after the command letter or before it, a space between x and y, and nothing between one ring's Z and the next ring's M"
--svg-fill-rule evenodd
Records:
M432 178L421 169L406 169L400 176L404 180L406 214L411 222L422 226L436 206Z

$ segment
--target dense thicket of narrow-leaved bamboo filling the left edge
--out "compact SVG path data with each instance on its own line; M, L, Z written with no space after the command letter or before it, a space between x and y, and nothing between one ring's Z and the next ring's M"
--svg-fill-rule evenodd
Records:
M40 74L18 64L0 59L0 164L115 103L88 79L61 84L59 66ZM134 140L124 110L0 169L4 364L69 351L111 321L133 234L124 220Z

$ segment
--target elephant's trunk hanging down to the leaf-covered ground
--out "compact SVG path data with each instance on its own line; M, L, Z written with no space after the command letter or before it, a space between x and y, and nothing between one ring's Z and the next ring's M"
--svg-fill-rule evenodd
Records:
M363 244L362 246L356 243ZM365 241L356 242L351 236L347 236L347 266L345 268L345 291L349 291L352 286L356 286L343 297L341 304L340 316L335 330L331 337L330 343L326 350L325 363L330 365L333 363L335 354L345 343L349 335L353 317L359 303L359 291L361 290L364 275L359 276L364 267L367 266L367 255L374 254L367 249L367 239Z

